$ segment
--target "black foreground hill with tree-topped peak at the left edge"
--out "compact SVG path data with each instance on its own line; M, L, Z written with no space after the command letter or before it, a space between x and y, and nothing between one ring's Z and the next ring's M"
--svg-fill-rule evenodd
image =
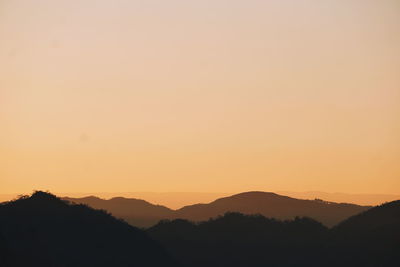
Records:
M0 205L0 266L176 266L148 235L44 192Z

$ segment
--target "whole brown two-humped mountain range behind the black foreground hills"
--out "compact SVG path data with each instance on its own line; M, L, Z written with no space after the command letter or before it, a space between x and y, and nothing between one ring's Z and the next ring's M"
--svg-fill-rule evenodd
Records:
M208 204L195 204L172 210L140 199L97 197L64 198L65 200L104 209L118 218L138 227L150 227L162 219L204 221L226 212L261 214L277 219L306 216L333 226L346 218L365 211L370 206L334 203L322 200L295 199L269 192L246 192L217 199Z

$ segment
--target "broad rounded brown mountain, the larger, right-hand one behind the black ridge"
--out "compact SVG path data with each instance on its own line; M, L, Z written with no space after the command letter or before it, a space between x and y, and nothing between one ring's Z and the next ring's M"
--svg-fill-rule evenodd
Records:
M268 192L246 192L217 199L209 204L183 207L175 212L175 218L204 221L226 212L261 214L277 219L310 217L327 226L333 226L348 217L370 207L322 200L303 200Z

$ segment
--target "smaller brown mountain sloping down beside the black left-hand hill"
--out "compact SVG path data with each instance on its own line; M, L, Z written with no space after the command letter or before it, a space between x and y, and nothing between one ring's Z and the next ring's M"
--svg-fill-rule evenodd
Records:
M84 198L63 198L78 204L86 204L95 209L103 209L117 218L122 218L131 225L148 227L158 221L170 218L173 211L167 207L153 205L134 198L115 197L109 200L90 196Z

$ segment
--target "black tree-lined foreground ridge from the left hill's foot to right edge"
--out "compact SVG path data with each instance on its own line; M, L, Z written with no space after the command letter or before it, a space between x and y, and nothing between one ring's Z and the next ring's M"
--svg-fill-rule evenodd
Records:
M187 267L400 266L400 201L328 229L308 218L289 221L228 213L195 224L162 221L148 233Z

